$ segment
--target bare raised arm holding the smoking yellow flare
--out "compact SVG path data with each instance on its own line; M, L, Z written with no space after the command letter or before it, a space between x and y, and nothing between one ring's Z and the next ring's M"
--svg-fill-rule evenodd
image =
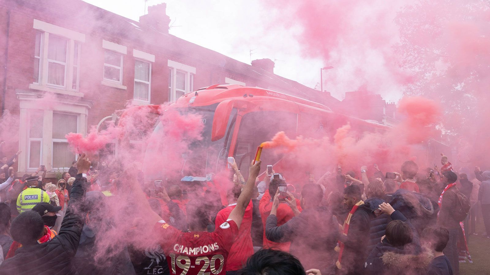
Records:
M228 219L233 220L237 224L237 227L239 229L240 225L242 224L242 219L244 218L245 209L250 203L250 199L252 198L253 186L255 186L255 179L259 175L260 164L262 163L262 160L259 160L255 164L254 162L255 160L252 160L252 163L250 164L250 169L248 171L248 180L246 181L245 186L242 189L242 193L240 193L240 196L238 197L237 206L235 206L235 208L231 210L231 213L228 216Z

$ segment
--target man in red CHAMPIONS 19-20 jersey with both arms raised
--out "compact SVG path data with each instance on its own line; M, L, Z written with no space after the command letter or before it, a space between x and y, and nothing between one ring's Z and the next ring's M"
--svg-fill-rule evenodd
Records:
M206 231L210 216L203 207L205 198L194 199L187 204L189 231L182 232L161 220L160 216L151 210L140 184L131 185L135 201L140 204L149 222L154 224L158 242L167 256L172 275L226 274L228 252L238 235L245 209L250 203L261 163L262 161L250 164L248 180L238 197L237 205L226 222L212 233Z

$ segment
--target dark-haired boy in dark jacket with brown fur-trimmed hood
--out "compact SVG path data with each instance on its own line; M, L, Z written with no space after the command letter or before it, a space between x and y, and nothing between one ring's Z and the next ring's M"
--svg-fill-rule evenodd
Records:
M419 275L431 261L433 254L422 251L417 230L400 211L383 203L379 206L392 221L386 227L386 235L371 251L364 265L365 274Z

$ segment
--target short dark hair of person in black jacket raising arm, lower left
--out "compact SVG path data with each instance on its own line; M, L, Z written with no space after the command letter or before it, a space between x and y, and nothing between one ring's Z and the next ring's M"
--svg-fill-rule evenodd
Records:
M35 243L44 231L43 218L36 211L20 213L10 225L10 235L22 245Z

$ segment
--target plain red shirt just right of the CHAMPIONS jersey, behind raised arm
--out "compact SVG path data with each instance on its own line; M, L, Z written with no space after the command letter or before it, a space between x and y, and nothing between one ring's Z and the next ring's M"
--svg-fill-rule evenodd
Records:
M218 228L222 223L228 219L231 211L235 208L237 204L225 207L218 212L216 215L216 228ZM240 230L238 230L238 237L231 246L230 253L228 255L228 260L226 261L226 271L239 270L243 267L248 257L253 254L253 244L252 244L252 211L253 204L252 201L248 204L245 209L244 218L242 224L240 225Z

